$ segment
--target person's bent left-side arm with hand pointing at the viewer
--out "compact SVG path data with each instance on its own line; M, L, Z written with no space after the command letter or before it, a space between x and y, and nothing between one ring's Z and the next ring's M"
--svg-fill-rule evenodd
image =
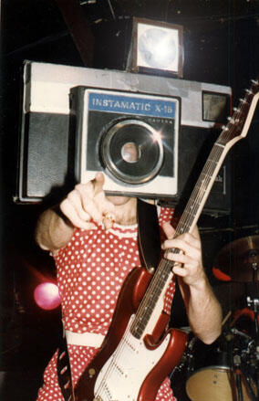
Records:
M88 184L79 184L60 205L47 209L36 225L36 242L40 248L57 251L67 245L75 227L96 228L92 221L103 222L109 228L112 221L104 218L114 215L114 206L103 192L104 176L97 174Z

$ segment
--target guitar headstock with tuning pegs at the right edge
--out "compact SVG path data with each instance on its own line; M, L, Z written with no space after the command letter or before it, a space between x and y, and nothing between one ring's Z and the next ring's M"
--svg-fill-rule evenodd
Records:
M259 98L259 79L252 79L251 82L251 88L245 90L245 95L239 100L238 107L233 108L233 116L228 117L227 124L223 125L223 131L217 141L223 146L226 144L233 146L248 132Z

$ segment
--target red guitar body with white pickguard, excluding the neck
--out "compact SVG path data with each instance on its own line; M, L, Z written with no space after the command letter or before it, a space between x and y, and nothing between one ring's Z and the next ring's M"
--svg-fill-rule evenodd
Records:
M162 314L153 333L140 339L129 332L151 277L146 269L136 268L125 280L104 343L78 380L76 401L153 401L179 363L187 336L178 330L165 332L167 316Z

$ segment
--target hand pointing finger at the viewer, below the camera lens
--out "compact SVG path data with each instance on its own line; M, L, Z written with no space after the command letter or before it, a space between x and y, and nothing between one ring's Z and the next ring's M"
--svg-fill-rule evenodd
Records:
M103 223L106 229L115 221L115 206L103 191L104 175L96 174L87 184L78 184L60 203L61 212L74 227L94 229Z

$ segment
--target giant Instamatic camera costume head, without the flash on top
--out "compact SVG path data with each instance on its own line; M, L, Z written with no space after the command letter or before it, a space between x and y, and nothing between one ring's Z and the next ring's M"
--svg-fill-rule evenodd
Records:
M191 193L229 115L229 87L26 61L16 202L105 174L109 194ZM227 157L204 207L229 213Z

